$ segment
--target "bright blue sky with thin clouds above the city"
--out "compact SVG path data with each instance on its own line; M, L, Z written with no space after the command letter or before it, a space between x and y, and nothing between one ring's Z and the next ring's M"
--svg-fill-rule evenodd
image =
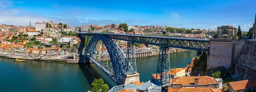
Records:
M44 2L42 2L44 1ZM71 26L127 23L177 28L254 23L256 0L0 0L0 24L32 25L54 20ZM254 5L253 5L254 4Z

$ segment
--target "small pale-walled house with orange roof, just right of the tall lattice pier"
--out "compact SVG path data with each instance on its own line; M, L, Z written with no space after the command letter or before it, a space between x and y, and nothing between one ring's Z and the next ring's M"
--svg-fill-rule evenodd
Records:
M171 69L171 75L172 78L177 78L177 77L181 77L181 76L185 76L185 68L175 68Z

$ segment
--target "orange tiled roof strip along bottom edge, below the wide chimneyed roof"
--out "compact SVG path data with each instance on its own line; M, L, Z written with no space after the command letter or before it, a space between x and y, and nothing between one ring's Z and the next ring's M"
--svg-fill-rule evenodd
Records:
M168 88L168 92L221 92L221 89L212 89L210 87L177 87Z

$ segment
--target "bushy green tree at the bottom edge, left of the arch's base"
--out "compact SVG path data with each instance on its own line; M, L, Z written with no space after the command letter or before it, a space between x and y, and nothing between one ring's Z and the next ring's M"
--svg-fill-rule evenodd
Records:
M108 92L109 86L108 84L104 84L102 78L99 78L98 80L95 79L93 81L93 83L91 84L91 89L93 92Z

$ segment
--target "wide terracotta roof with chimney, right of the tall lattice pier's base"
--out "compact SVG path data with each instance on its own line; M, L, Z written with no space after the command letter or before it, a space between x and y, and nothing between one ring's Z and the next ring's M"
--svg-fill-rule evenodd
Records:
M184 77L173 78L172 84L194 85L195 78L199 78L198 85L218 83L218 81L215 81L214 78L209 76L184 76Z

